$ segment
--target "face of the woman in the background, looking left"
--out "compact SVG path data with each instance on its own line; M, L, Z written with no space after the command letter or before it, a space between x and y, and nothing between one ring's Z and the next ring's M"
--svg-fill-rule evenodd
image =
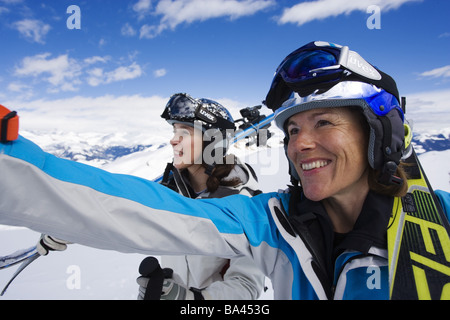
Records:
M202 163L202 133L194 127L175 123L170 144L173 148L173 165L182 170Z

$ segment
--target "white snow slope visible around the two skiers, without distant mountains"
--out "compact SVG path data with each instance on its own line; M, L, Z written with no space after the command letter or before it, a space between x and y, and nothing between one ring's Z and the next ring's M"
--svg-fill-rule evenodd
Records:
M279 133L278 133L279 134ZM37 137L36 137L37 138ZM55 138L56 139L56 138ZM88 139L87 139L88 140ZM280 136L270 139L269 148L236 145L233 153L244 158L257 172L263 191L285 188L289 182L287 161ZM108 142L109 143L109 142ZM171 158L170 146L151 141L152 147L114 161L89 162L111 172L129 173L153 179ZM421 154L420 159L432 185L450 192L450 150ZM39 234L23 228L0 226L0 255L35 244ZM0 300L8 299L135 299L138 266L144 256L122 254L70 245L65 252L51 253L31 264L13 282ZM0 271L0 287L15 267ZM270 281L266 285L270 287ZM271 288L262 296L272 298Z

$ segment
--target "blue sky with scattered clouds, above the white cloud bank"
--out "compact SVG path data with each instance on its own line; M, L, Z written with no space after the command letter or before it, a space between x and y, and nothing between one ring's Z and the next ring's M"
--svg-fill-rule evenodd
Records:
M447 101L449 13L446 0L0 0L0 103L21 111L183 91L258 104L281 60L314 40L348 45L402 95Z

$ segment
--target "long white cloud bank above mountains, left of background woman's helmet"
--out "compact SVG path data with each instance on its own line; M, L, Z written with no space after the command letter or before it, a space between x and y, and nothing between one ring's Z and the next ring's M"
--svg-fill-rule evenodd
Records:
M146 128L161 127L158 132L170 136L170 126L160 117L168 99L160 96L104 95L30 101L20 98L4 100L3 104L19 113L21 130L26 131L107 134L144 132Z

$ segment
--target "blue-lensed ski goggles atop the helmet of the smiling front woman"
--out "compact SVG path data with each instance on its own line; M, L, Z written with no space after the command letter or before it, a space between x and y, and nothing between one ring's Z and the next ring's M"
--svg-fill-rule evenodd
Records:
M301 97L323 93L341 81L374 84L393 94L398 90L394 80L365 61L346 46L315 41L291 54L279 65L265 104L273 111L297 92Z

